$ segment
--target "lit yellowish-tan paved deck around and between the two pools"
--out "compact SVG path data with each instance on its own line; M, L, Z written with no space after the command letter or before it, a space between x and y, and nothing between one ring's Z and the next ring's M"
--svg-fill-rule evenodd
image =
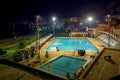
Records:
M88 38L97 48L99 48L100 50L103 49L102 45L100 42L98 42L97 40L95 39L92 39L92 38ZM46 42L46 44L40 49L40 57L41 57L41 62L38 64L42 64L48 60L50 60L51 58L54 58L56 56L59 56L59 55L67 55L67 56L72 56L72 57L77 57L77 58L82 58L82 59L86 59L86 60L90 60L90 55L94 55L96 54L97 52L96 51L92 51L92 50L87 50L86 51L86 54L84 56L78 56L78 53L77 51L74 51L73 50L60 50L60 51L56 51L56 50L51 50L51 51L48 51L48 55L49 57L46 58L45 55L46 55L46 47L51 43L52 39L49 40L48 42ZM100 51L99 50L99 51ZM24 64L24 65L27 65L29 63L31 63L32 61L35 61L36 58L32 58L29 60L29 62L26 62L26 61L21 61L20 63L21 64ZM38 66L36 65L36 66Z

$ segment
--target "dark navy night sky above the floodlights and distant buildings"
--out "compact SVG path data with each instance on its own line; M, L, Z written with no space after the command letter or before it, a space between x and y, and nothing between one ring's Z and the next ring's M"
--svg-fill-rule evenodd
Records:
M92 15L101 17L109 0L3 0L0 1L0 23L31 20L35 15L61 18Z

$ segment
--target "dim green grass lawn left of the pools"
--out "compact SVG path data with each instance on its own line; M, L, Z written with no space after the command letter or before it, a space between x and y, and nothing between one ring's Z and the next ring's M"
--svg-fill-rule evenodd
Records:
M13 42L12 38L1 41L0 48L5 49L7 53L4 55L1 55L0 58L10 59L14 55L15 51L19 50L17 45L21 41L26 41L27 44L30 44L35 41L35 37L26 38L26 39L18 39L16 40L16 43Z

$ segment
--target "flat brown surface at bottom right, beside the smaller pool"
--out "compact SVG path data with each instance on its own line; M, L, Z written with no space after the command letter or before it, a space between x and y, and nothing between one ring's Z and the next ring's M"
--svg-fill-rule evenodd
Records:
M111 61L106 61L104 56L111 56ZM120 50L106 49L95 64L85 80L120 80ZM118 76L117 79L110 79Z

